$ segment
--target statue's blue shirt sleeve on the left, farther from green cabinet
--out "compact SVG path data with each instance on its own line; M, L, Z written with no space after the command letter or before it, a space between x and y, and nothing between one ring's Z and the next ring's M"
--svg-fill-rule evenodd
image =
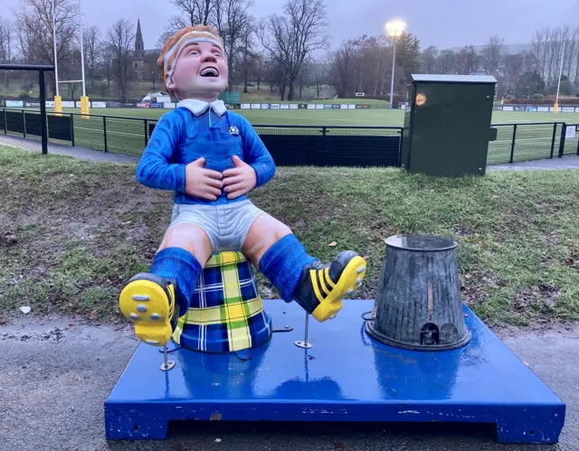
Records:
M159 119L138 162L138 183L158 190L185 193L185 164L172 163L182 130L183 121L174 112Z

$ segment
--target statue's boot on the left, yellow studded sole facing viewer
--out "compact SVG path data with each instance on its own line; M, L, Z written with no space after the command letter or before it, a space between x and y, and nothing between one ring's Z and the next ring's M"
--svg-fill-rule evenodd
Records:
M163 277L140 273L132 277L119 296L119 308L142 342L163 346L178 320L175 286Z

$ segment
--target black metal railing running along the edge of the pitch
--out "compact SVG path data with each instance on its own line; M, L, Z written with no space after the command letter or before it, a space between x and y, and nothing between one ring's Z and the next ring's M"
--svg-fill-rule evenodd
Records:
M158 119L47 113L53 142L140 156ZM38 110L0 108L0 133L39 137ZM400 165L403 127L254 125L276 164ZM487 164L579 155L579 124L493 124ZM576 132L576 133L575 133Z

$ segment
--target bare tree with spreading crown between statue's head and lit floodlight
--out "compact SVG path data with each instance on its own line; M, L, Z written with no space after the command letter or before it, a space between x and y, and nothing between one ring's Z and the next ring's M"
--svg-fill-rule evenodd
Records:
M273 61L280 63L294 98L295 82L313 52L327 48L326 5L323 0L288 0L283 15L273 14L261 23L261 44ZM285 89L280 91L284 99Z

